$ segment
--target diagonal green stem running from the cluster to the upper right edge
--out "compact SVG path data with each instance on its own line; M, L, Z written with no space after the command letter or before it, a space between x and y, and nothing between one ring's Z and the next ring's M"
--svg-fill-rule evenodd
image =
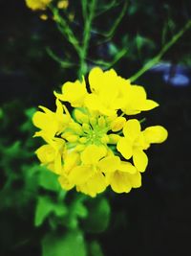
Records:
M159 54L149 60L135 75L133 75L130 80L136 81L138 78L143 75L146 71L148 71L152 66L157 64L159 60L163 57L163 55L169 50L170 47L172 47L179 39L180 37L191 28L191 20L189 20L185 26L180 30L180 32L172 37L172 39L164 45L164 47L160 50Z

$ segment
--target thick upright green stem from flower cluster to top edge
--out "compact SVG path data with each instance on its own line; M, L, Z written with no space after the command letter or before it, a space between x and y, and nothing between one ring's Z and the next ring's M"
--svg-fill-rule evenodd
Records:
M78 71L78 77L81 79L83 75L87 72L87 65L86 65L86 57L88 53L89 48L89 42L90 42L90 36L91 36L91 29L92 29L92 22L95 15L95 9L96 9L96 0L90 1L90 4L88 4L87 1L84 2L86 6L83 6L83 10L87 10L87 7L89 5L89 14L88 12L85 12L84 15L84 33L83 33L83 41L79 56L79 71Z

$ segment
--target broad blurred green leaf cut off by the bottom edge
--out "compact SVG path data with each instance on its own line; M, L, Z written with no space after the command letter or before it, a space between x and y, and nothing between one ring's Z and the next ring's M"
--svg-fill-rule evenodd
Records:
M46 235L42 241L42 256L87 256L83 234L74 230L66 235Z

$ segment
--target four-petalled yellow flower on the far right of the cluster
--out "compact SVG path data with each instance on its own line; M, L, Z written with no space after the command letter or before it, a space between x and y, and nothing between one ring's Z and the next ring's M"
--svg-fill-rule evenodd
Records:
M124 137L117 142L117 151L125 159L133 156L133 162L139 172L144 172L148 164L148 157L143 150L147 150L151 143L161 143L167 138L166 129L160 126L146 128L141 132L137 119L127 121L123 134Z

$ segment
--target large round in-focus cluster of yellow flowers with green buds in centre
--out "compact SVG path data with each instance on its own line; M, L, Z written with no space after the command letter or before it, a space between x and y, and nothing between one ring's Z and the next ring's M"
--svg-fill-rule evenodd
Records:
M34 113L33 124L46 144L36 154L43 165L59 175L65 190L96 197L109 185L117 193L128 193L141 185L148 158L145 151L161 143L167 131L161 126L141 130L131 115L158 104L148 100L142 86L132 85L111 69L92 69L90 92L86 81L67 81L62 93L54 92L56 111L44 106ZM61 102L73 107L72 115Z

